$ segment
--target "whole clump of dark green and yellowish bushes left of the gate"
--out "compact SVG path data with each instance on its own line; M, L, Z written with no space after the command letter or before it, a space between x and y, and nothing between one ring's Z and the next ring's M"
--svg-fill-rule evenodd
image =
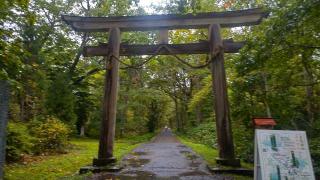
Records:
M24 155L61 153L66 151L70 130L55 118L8 124L6 160L19 161Z

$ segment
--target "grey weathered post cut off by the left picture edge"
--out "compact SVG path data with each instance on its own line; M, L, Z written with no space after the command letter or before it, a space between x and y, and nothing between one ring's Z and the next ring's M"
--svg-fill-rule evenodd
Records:
M0 179L3 179L5 164L6 128L8 123L9 84L0 80Z

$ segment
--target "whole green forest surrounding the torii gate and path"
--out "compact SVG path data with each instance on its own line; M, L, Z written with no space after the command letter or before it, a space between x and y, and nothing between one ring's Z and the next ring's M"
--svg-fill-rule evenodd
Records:
M7 179L19 179L14 177L19 173L23 177L23 165L80 152L81 141L88 149L97 146L105 59L84 57L82 50L106 43L108 33L75 32L61 15L196 14L257 7L269 12L261 24L222 28L223 39L245 42L239 53L225 54L236 155L252 166L252 118L272 117L275 129L306 131L319 176L320 1L1 0L0 80L10 86ZM158 36L158 31L123 32L121 42L156 44ZM207 29L169 31L171 44L207 39ZM210 67L195 68L208 56L179 59L187 63L165 55L121 56L116 139L122 154L165 126L188 142L217 149ZM71 173L62 167L54 177L73 174L92 157L83 159Z

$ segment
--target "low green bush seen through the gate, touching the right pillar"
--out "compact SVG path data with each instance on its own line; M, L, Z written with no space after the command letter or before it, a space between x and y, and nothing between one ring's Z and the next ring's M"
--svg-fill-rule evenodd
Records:
M211 147L217 147L216 128L214 122L203 123L187 131L188 138L206 144Z

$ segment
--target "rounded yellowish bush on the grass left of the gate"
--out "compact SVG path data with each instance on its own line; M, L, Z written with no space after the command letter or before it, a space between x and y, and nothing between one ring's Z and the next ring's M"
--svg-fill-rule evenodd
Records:
M65 152L70 134L70 129L66 124L55 118L49 118L33 132L38 138L35 144L36 153Z

